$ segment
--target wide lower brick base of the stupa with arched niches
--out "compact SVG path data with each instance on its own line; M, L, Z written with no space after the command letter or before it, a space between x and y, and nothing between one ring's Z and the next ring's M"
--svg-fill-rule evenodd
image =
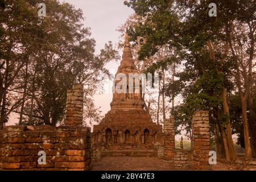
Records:
M94 125L92 138L94 148L108 156L157 156L163 144L162 125L152 122L143 109L110 110Z

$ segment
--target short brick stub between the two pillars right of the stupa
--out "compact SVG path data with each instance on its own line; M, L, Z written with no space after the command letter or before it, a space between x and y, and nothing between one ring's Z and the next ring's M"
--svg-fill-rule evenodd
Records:
M174 166L176 168L188 168L188 151L175 149Z

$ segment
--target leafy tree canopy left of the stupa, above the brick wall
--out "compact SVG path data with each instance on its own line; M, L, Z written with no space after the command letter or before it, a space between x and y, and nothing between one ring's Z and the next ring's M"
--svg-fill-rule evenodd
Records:
M100 55L95 54L96 42L90 38L90 28L81 23L84 18L80 9L69 3L46 0L46 17L38 18L40 2L7 0L5 11L0 10L3 30L0 78L9 76L0 83L11 90L5 92L6 97L0 93L1 105L2 98L7 98L1 118L6 118L10 111L22 112L23 124L43 122L55 126L64 119L67 89L81 83L88 101L85 116L97 119L99 113L91 97L100 89L102 77L109 75L105 64L118 59L118 52L109 42ZM18 102L11 94L16 94ZM19 111L21 105L24 109Z

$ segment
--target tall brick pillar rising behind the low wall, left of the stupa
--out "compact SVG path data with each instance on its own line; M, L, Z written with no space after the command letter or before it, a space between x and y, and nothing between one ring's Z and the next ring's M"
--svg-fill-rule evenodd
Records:
M82 126L82 107L84 98L84 85L75 84L67 92L65 125Z

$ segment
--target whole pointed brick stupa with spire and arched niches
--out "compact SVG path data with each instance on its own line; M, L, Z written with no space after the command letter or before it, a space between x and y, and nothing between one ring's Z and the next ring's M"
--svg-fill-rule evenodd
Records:
M129 80L129 73L138 73L131 54L129 37L126 34L121 64L118 73L124 73ZM115 80L115 85L119 80ZM127 85L129 85L127 83ZM111 110L99 125L93 127L93 143L109 150L127 150L129 148L154 148L162 141L162 126L152 122L150 114L144 108L142 88L139 93L113 93Z

